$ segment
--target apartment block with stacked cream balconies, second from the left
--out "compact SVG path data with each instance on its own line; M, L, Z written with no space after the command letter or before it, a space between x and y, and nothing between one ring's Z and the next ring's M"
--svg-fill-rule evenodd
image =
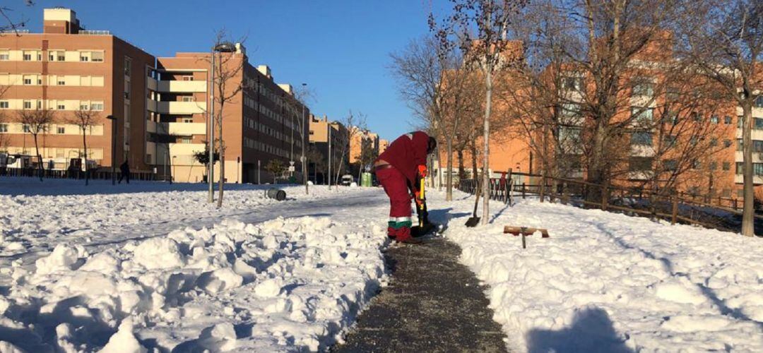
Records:
M291 85L275 82L269 66L252 66L246 48L236 44L236 53L225 61L223 70L237 71L227 82L226 95L241 87L223 106L223 140L227 182L257 183L272 180L265 171L272 159L285 165L294 162L292 172L301 173L303 137L307 140L310 110L294 96ZM194 154L204 151L208 141L208 102L211 101L211 54L177 53L157 59L156 103L161 108L150 123L153 134L149 149L172 165L175 181L201 181L207 174ZM217 88L215 88L217 90ZM219 95L219 92L215 91ZM215 114L221 104L215 98ZM214 129L217 140L217 127ZM214 180L220 178L219 164ZM278 175L281 177L282 175Z

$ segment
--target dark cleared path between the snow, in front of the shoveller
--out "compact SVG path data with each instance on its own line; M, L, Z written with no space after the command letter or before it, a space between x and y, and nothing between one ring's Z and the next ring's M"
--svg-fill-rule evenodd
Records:
M460 253L445 239L389 249L391 284L332 351L506 351L484 287L459 264Z

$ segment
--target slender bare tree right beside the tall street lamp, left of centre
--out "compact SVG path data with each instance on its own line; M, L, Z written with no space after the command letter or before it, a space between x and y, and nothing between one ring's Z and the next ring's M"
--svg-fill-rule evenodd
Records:
M237 40L236 43L243 43ZM217 207L223 206L223 193L225 184L225 141L223 139L223 117L225 104L232 103L240 94L245 85L243 68L246 63L246 55L239 53L236 44L229 40L225 30L218 30L214 40L211 62L214 63L214 80L212 90L214 104L214 124L217 125L217 151L220 153L220 181L218 181Z

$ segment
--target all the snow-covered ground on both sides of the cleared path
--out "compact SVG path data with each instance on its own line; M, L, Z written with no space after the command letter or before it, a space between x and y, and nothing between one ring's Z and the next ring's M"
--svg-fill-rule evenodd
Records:
M0 178L0 351L323 349L387 280L378 188L80 183ZM530 200L467 229L429 195L511 351L763 351L763 239Z

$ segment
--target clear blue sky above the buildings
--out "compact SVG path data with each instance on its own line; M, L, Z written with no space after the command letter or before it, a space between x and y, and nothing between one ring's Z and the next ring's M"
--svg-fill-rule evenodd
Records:
M432 5L436 2L436 5ZM215 30L246 36L253 65L267 64L275 80L316 96L314 114L330 119L349 109L367 115L371 130L394 139L411 130L414 118L398 96L388 66L389 53L427 34L427 14L443 0L22 0L5 2L13 17L42 30L43 8L77 12L88 29L111 30L155 56L211 47Z

